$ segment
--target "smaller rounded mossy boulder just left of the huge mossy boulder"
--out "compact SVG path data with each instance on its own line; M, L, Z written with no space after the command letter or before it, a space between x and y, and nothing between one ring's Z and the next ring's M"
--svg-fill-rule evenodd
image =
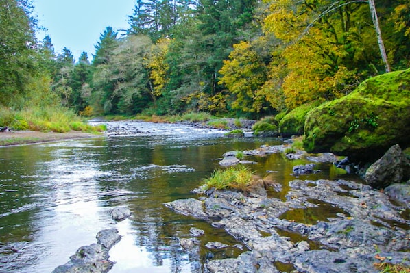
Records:
M289 137L291 135L303 135L306 114L318 105L320 105L320 102L313 101L311 103L300 105L286 114L279 122L280 135L284 137Z

